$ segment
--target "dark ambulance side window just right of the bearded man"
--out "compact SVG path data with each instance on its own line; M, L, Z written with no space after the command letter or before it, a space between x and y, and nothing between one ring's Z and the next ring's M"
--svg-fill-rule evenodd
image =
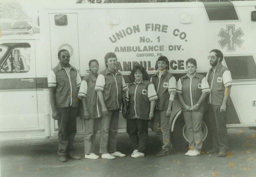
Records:
M233 80L256 79L256 64L253 56L224 57Z

